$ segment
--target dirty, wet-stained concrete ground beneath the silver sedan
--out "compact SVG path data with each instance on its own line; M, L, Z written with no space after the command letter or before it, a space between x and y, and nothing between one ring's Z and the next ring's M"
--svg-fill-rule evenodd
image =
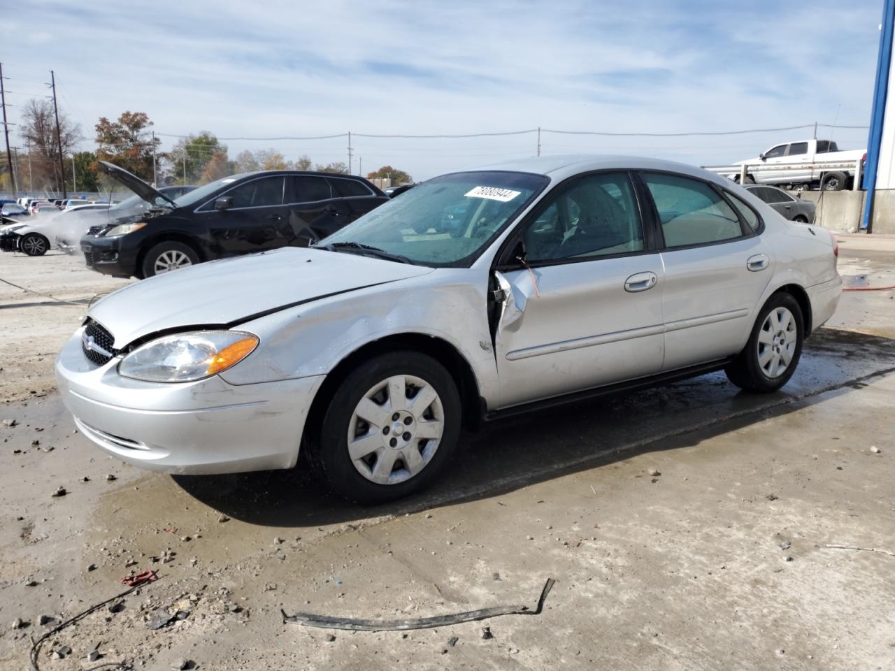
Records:
M840 271L895 284L895 239L843 236ZM28 668L40 616L146 568L158 582L51 636L39 667L895 668L895 292L844 294L778 394L710 375L495 424L435 488L361 508L303 471L171 478L105 457L51 364L90 295L122 283L61 255L0 255L0 278L54 297L0 287L0 420L16 422L0 424L0 668ZM280 612L534 607L548 577L541 615L439 629ZM149 629L159 607L186 616Z

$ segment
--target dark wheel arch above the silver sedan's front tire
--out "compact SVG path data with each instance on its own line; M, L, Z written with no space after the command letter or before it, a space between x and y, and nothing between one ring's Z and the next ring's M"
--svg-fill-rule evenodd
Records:
M320 420L323 413L326 412L329 399L332 398L348 373L355 369L361 361L366 361L378 354L399 350L420 352L439 361L456 383L457 392L460 394L464 426L473 430L479 428L482 420L482 404L480 403L479 384L469 361L466 361L463 354L453 344L438 336L401 333L386 335L362 344L345 355L328 372L327 378L320 385L320 389L317 390L317 394L314 395L314 400L311 402L311 409L304 422L306 432L313 432L320 427Z

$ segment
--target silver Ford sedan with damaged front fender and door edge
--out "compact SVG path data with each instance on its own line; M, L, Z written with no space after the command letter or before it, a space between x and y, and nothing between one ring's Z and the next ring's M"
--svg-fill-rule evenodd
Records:
M457 237L410 230L458 205ZM839 301L837 252L698 168L530 158L431 179L310 249L124 287L56 377L125 462L287 469L302 446L378 503L429 484L482 420L720 369L779 389Z

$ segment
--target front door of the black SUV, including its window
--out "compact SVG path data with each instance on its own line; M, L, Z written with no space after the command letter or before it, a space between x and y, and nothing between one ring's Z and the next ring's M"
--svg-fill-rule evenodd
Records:
M209 208L209 231L219 253L245 254L286 244L281 234L286 220L284 186L283 175L259 177L237 184L203 206ZM215 203L222 198L230 202L218 209Z

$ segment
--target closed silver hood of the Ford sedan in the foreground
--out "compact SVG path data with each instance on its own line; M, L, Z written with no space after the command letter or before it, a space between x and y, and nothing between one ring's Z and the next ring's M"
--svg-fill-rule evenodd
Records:
M95 302L88 316L121 349L159 332L232 327L303 302L430 272L356 254L286 247L142 280Z

